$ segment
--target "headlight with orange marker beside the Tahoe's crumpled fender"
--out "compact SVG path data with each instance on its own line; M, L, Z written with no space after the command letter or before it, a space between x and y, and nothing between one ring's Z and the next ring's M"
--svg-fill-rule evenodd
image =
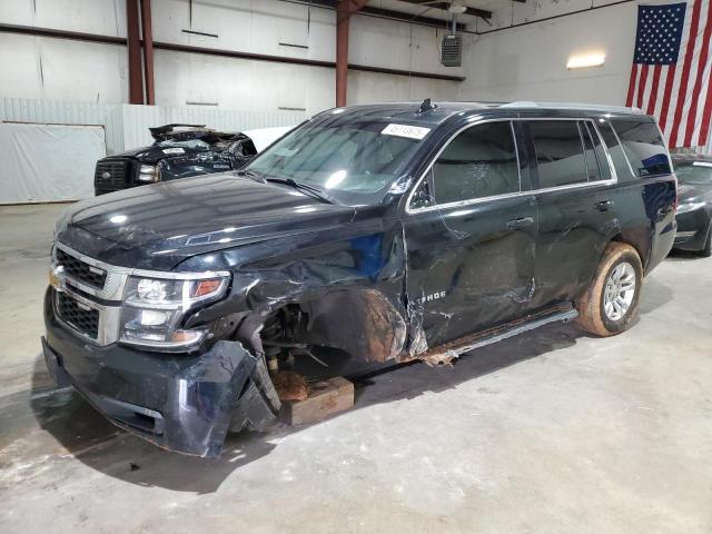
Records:
M185 278L131 276L123 290L120 343L149 349L189 350L206 329L181 329L186 312L225 296L228 273L187 275Z

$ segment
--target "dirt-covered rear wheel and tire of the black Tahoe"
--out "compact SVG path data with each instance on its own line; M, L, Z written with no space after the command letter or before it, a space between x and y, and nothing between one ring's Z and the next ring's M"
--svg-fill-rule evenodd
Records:
M637 310L642 284L643 265L637 251L624 243L610 243L603 250L591 285L576 301L576 323L601 337L626 330Z

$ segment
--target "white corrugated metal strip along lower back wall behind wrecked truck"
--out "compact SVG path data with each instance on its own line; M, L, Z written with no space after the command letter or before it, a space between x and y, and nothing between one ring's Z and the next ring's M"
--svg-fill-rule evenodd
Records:
M305 113L240 111L219 108L164 108L126 103L65 102L23 98L0 98L0 121L55 125L97 125L106 130L107 154L150 145L149 127L170 122L206 125L240 131L276 126L295 126Z

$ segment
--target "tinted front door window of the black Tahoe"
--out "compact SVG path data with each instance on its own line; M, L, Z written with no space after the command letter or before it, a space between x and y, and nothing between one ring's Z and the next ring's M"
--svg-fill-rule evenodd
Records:
M432 182L437 204L518 192L511 122L487 122L459 134L433 165Z

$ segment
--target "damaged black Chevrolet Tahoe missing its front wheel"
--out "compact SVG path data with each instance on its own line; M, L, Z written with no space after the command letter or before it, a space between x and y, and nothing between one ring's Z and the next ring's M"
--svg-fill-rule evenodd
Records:
M675 202L660 129L630 109L334 109L243 171L69 209L44 357L118 426L216 456L273 422L284 369L436 365L554 320L624 330Z

